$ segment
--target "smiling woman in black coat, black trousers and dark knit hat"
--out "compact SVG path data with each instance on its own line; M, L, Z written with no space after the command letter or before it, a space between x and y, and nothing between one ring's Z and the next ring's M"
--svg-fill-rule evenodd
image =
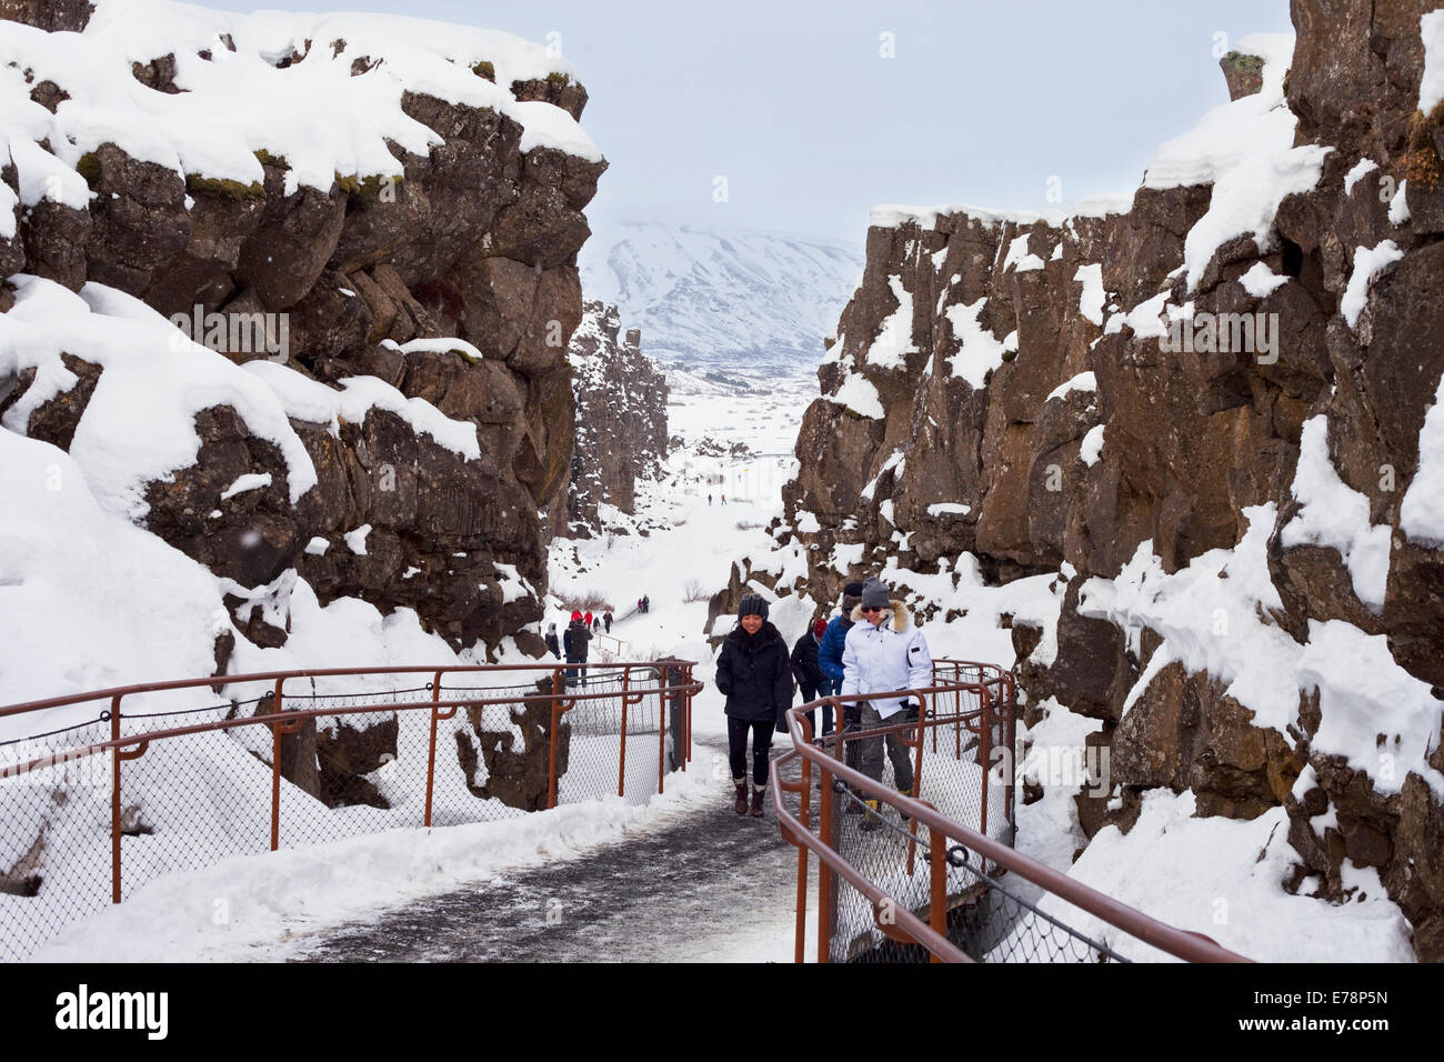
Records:
M767 621L767 601L748 595L736 610L738 623L718 655L718 689L726 696L728 759L736 799L732 809L745 815L747 734L752 733L752 816L762 818L767 789L767 756L773 725L793 702L793 673L787 642Z

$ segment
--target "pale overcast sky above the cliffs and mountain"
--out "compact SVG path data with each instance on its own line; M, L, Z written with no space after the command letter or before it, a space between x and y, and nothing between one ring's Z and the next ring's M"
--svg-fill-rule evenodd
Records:
M882 202L1043 210L1131 192L1162 140L1227 101L1220 45L1291 30L1287 0L342 0L336 9L537 42L560 33L591 94L582 124L611 163L588 210L593 225L658 220L855 243ZM1061 204L1048 201L1050 188Z

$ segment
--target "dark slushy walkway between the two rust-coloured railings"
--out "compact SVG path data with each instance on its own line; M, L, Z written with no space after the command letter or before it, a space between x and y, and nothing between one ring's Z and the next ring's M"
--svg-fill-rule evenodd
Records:
M780 741L787 747L786 738ZM725 751L699 740L696 769ZM778 747L774 746L774 754ZM347 923L305 948L318 962L715 962L793 958L797 850L716 800L586 858L523 870Z

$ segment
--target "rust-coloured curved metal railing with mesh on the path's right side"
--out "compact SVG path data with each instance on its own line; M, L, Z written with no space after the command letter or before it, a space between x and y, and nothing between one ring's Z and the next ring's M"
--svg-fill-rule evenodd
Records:
M1110 932L1175 958L1248 961L1200 933L1164 925L1014 851L1012 759L995 757L993 748L1005 744L1012 750L1015 681L995 665L960 660L936 662L934 675L930 688L868 695L917 701L921 711L915 721L814 741L807 712L832 705L842 718L843 702L866 698L826 696L787 712L794 750L773 760L771 773L778 825L797 847L796 961L806 958L813 854L819 860L819 962L901 959L918 951L933 962L1125 961L1112 945L1067 925L1057 902L1071 905L1074 919L1092 916ZM954 738L952 750L939 743L939 734L949 731ZM910 792L845 761L849 743L882 741L890 734L913 753ZM930 757L924 757L927 746L934 753ZM784 780L794 764L800 780ZM816 824L813 772L820 774ZM959 792L970 786L976 787L976 799L960 800ZM947 800L954 813L920 799L924 789L934 800ZM991 821L989 789L1002 790L1002 813L995 812ZM796 813L787 806L788 796L797 799ZM898 818L888 816L888 811ZM849 818L849 812L856 815ZM917 848L927 852L924 868L915 864ZM1031 883L1044 900L1024 899L1019 889L999 880L1005 874ZM843 906L849 906L846 918ZM865 912L865 925L859 912Z

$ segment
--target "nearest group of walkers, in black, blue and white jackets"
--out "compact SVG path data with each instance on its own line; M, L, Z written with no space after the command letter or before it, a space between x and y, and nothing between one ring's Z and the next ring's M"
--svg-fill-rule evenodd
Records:
M917 630L901 601L887 585L872 578L849 582L842 591L842 613L832 621L817 618L793 644L768 618L767 601L755 594L738 605L738 623L718 655L716 683L726 698L728 760L732 769L734 811L762 816L767 764L773 733L786 731L783 714L793 702L793 679L804 701L917 689L931 685L933 657L927 639ZM875 698L843 707L846 730L875 730L898 722L915 722L920 705L907 698ZM832 708L823 705L822 735L833 733ZM807 718L816 728L816 715ZM816 730L814 730L816 733ZM911 734L911 731L904 731ZM752 772L748 785L747 744L752 738ZM848 744L846 763L874 780L882 779L882 753L892 763L892 780L904 795L913 795L913 763L898 733ZM751 790L751 792L749 792ZM882 825L878 802L866 800L864 829ZM849 802L849 812L862 812Z

